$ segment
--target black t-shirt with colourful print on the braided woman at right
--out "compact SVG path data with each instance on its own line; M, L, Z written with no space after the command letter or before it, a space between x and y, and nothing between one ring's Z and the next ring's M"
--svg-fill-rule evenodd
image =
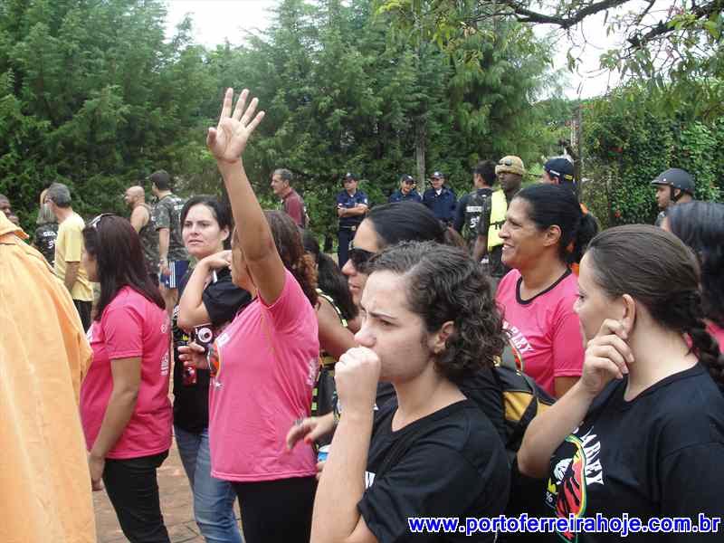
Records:
M551 516L724 517L724 397L697 365L624 400L626 379L595 398L551 457ZM554 491L555 489L555 491ZM632 534L632 541L721 541L719 534ZM557 541L620 541L614 533L558 534Z

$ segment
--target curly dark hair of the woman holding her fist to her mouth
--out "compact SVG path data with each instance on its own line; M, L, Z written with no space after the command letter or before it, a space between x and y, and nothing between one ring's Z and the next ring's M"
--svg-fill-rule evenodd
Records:
M452 321L454 331L435 369L456 384L492 367L505 347L500 311L481 266L462 249L434 242L403 242L377 253L369 272L404 275L410 309L428 333Z

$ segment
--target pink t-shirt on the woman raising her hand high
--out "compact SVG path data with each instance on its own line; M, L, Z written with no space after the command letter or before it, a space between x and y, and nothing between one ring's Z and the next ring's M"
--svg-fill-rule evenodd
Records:
M286 271L279 300L257 298L216 338L209 386L211 473L224 481L313 476L310 445L286 450L291 424L309 416L319 365L317 316Z

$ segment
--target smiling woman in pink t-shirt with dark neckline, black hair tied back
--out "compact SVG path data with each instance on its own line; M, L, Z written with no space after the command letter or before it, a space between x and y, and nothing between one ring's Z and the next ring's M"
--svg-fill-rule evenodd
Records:
M557 185L533 185L510 202L500 231L502 262L512 270L500 281L496 300L523 370L549 394L560 397L583 367L583 338L576 301L576 275L590 240L576 196Z

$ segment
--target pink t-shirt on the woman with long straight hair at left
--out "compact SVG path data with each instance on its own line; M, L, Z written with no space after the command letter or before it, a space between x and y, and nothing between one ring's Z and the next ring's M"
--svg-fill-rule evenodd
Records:
M123 287L100 322L88 330L93 362L81 386L81 421L88 450L100 432L100 424L113 390L110 361L141 357L138 400L129 424L107 458L139 458L171 447L173 414L168 400L168 346L170 322L166 310L138 291Z

